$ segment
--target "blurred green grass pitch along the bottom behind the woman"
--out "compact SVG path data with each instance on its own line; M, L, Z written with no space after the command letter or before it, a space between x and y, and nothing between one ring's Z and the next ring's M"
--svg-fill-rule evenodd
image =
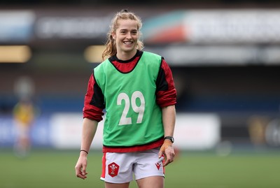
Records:
M88 157L88 178L76 178L78 152L39 150L26 159L0 151L0 187L104 187L99 180L101 152ZM280 152L239 153L218 157L214 153L182 153L166 168L165 187L172 188L279 188ZM137 187L132 182L131 188Z

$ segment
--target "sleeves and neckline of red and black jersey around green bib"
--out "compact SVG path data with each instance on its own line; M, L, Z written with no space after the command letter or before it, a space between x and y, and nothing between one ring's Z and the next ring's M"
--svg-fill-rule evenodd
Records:
M127 61L122 61L115 55L110 57L109 61L116 69L118 69L118 71L122 73L129 73L130 71L133 71L135 66L137 66L142 54L142 51L137 51L137 54ZM158 106L162 108L176 104L176 89L174 87L172 71L163 57L158 72L158 78L156 80L156 86L157 89L155 94ZM106 104L104 103L104 94L102 93L99 85L97 85L97 82L95 82L93 72L87 85L83 117L100 122L102 120L102 115L104 115L104 108L106 108Z

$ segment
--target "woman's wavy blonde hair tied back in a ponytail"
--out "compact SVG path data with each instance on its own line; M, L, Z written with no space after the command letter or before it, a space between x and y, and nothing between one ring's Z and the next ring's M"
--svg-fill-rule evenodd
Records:
M137 29L139 31L139 38L141 38L141 27L142 27L142 21L141 18L135 15L132 12L129 12L128 10L121 10L120 12L116 13L116 15L113 17L111 21L111 26L110 26L110 31L107 34L107 41L105 44L105 50L102 53L102 60L105 59L105 57L111 57L113 55L117 54L117 48L116 48L116 41L113 39L112 33L116 31L118 28L118 20L123 19L123 20L135 20L137 21ZM138 39L137 45L136 45L137 50L142 50L144 48L144 43Z

